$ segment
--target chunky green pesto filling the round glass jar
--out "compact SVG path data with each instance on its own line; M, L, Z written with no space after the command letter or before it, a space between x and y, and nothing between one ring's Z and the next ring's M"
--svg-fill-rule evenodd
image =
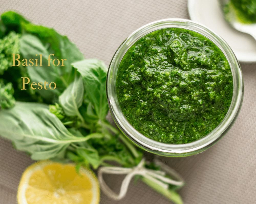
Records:
M233 94L230 66L206 37L186 29L154 31L124 55L117 74L124 116L143 135L184 144L211 132Z

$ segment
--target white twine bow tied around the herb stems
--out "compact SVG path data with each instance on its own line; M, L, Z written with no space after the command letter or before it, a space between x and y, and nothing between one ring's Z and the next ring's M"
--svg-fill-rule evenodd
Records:
M145 178L151 180L152 182L162 186L164 189L168 189L169 184L175 185L175 186L183 186L184 181L179 176L179 174L171 169L169 166L165 165L164 163L160 162L159 160L155 160L155 164L160 166L160 170L152 170L152 169L146 169L144 167L145 165L145 159L143 158L141 162L133 168L123 168L123 167L101 167L99 168L98 172L98 179L101 186L102 191L109 196L110 198L114 200L120 200L122 199L128 190L129 183L133 176L135 175L141 175ZM117 195L115 192L113 192L109 186L105 183L103 179L103 173L109 173L109 174L127 174L121 184L120 193ZM176 179L170 179L168 177L165 177L166 173L168 173L172 178Z

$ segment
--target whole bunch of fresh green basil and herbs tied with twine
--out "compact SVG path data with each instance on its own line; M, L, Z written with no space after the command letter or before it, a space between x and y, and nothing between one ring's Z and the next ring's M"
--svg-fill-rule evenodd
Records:
M12 66L42 54L42 66ZM48 56L67 59L65 66L48 66ZM21 63L22 64L22 63ZM22 89L22 77L31 82L55 82L56 89ZM84 59L66 36L54 29L31 24L15 12L1 15L0 22L0 135L34 160L72 160L79 167L97 169L115 161L134 167L142 151L107 120L106 67L97 59ZM149 165L148 168L156 168ZM152 182L148 183L152 186ZM157 189L182 203L170 185Z

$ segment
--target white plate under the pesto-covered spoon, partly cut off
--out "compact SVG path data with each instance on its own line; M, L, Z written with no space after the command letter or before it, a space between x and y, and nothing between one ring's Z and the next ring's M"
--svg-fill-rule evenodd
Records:
M224 20L218 0L188 0L190 19L220 35L231 47L240 62L256 62L256 41L239 32Z

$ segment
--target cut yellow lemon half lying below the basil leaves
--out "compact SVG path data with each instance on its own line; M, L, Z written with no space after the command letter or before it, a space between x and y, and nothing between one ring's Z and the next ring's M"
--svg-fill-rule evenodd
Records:
M19 204L98 204L99 182L88 169L75 164L40 161L28 167L18 188Z

